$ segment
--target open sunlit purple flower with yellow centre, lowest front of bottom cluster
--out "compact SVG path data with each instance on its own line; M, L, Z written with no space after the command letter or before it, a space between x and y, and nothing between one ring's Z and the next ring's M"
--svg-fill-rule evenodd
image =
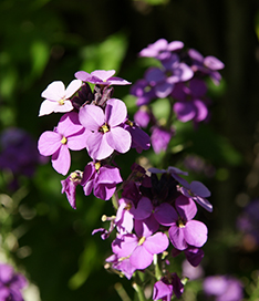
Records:
M168 238L163 232L156 232L157 224L148 219L146 221L136 220L134 233L118 235L113 241L113 252L118 258L130 258L130 263L136 269L143 270L151 266L153 257L162 253L168 247Z

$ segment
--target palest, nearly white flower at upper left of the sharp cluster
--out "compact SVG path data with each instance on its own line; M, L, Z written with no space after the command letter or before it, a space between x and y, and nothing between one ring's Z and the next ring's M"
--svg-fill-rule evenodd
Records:
M73 80L65 89L61 81L55 81L48 85L48 87L41 93L41 96L45 98L40 107L39 116L48 115L52 112L70 112L74 107L70 101L70 97L81 87L82 81Z

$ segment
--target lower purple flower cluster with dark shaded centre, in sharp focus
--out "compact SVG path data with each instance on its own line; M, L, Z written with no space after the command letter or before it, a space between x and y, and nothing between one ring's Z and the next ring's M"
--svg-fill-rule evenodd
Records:
M184 251L188 262L197 267L204 257L201 247L207 241L207 227L194 218L196 203L213 210L205 198L210 195L209 190L198 181L188 184L182 177L186 173L175 167L149 168L148 172L149 176L134 164L123 184L116 216L108 218L110 229L93 231L101 231L106 239L117 230L112 242L113 255L106 261L128 279L136 270L151 267L154 255L165 253L168 247L173 247L173 251L167 260ZM183 290L178 276L168 271L155 283L153 300L170 300L173 292L179 298Z

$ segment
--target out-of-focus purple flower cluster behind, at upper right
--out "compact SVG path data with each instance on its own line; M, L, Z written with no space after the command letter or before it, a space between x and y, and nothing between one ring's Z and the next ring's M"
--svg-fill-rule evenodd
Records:
M218 85L224 63L215 56L204 58L194 49L185 49L180 41L167 42L159 39L139 52L139 56L154 58L159 66L146 70L144 79L136 81L131 94L136 96L139 107L135 122L146 127L151 124L152 145L155 153L167 148L175 131L172 123L164 125L155 118L151 103L157 98L168 98L176 118L180 122L193 121L194 125L209 118L207 85L210 77Z

